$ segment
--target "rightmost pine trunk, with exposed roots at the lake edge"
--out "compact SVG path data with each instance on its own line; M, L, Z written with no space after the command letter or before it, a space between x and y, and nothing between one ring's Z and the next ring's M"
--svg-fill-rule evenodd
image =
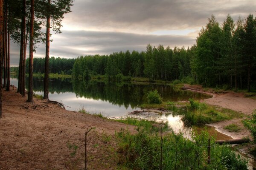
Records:
M48 0L50 6L51 0ZM44 99L49 99L49 48L50 48L50 14L47 15L46 24L46 50L45 50L45 67L44 67Z

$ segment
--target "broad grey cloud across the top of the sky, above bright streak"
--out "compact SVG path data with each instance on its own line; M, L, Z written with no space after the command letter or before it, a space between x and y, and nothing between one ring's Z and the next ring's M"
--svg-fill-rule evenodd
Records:
M66 19L84 28L98 29L198 28L212 14L222 22L227 14L237 17L254 13L255 6L254 0L76 0Z

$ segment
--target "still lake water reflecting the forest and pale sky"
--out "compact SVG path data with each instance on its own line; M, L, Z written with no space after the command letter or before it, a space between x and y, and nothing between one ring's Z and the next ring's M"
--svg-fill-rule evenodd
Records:
M27 81L26 81L27 82ZM11 84L17 87L17 79ZM44 79L34 78L35 94L43 95ZM211 96L192 91L180 91L170 85L123 82L83 82L71 79L50 79L49 99L62 102L67 110L79 111L84 108L90 113L102 113L106 117L120 117L140 110L139 106L147 102L148 91L157 90L163 101L188 101L207 99Z

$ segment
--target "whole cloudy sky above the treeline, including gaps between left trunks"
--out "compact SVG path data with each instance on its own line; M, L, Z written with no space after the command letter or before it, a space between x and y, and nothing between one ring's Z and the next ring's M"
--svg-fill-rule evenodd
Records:
M219 23L227 14L235 21L255 15L256 0L74 0L71 10L62 33L52 33L50 56L145 51L147 44L186 48L195 44L212 14ZM45 45L38 45L34 57L44 57ZM12 43L12 66L18 57L19 47Z

